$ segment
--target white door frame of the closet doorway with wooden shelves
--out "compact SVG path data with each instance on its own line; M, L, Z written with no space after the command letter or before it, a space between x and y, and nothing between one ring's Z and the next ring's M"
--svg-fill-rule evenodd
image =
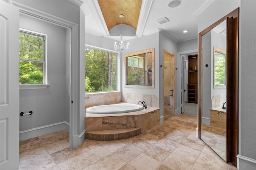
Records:
M180 63L182 62L181 59L180 59L181 55L194 55L194 54L198 54L198 49L178 52L178 57L177 57L177 63L178 63L178 73L177 73L177 75L178 76L181 74L181 68L180 68ZM177 79L179 79L178 76L177 76ZM180 89L180 87L182 86L182 84L179 80L177 80L177 86L178 86L177 89ZM180 101L180 100L181 100L181 94L179 92L177 94L177 101ZM175 110L175 115L180 115L180 113L181 113L181 104L180 104L180 102L177 102L177 108Z

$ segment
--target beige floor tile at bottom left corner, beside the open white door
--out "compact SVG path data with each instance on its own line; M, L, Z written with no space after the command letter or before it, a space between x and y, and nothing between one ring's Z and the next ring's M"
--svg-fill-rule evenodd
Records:
M52 156L49 154L42 156L36 160L32 160L26 164L21 165L22 170L45 170L52 166L55 166L55 162L52 159Z

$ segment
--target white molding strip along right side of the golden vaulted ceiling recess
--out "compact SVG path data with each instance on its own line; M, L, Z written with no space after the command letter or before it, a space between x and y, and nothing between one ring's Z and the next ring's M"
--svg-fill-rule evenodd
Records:
M148 20L148 15L150 12L150 8L152 6L153 0L143 0L140 9L140 16L138 20L136 36L141 37L146 25L146 21Z

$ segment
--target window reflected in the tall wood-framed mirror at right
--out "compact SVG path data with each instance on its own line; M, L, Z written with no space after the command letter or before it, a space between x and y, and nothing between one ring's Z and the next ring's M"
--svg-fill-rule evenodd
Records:
M226 51L214 47L214 88L226 88Z

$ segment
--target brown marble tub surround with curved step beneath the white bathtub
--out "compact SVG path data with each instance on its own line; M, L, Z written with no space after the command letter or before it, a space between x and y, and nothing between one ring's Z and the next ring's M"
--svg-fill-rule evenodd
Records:
M160 124L160 108L116 114L86 113L86 139L114 141L134 137Z

